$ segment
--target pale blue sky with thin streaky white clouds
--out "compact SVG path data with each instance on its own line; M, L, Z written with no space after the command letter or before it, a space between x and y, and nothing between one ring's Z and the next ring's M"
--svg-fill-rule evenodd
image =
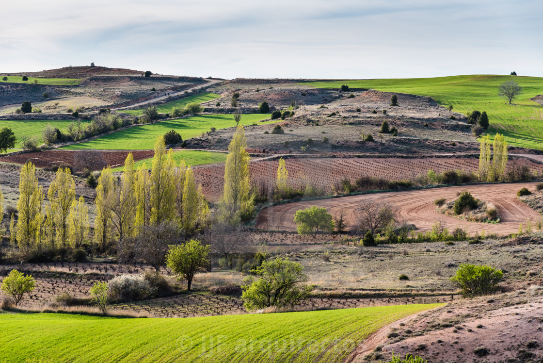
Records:
M2 0L0 72L543 77L541 0Z

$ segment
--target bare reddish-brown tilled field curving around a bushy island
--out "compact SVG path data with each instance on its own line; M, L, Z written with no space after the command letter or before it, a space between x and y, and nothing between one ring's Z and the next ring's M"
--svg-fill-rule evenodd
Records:
M352 228L355 225L354 210L361 201L385 201L394 205L400 216L400 220L413 223L418 230L427 231L432 229L435 220L445 220L450 228L456 226L468 227L468 233L473 234L492 231L505 235L515 233L519 230L519 224L525 223L529 218L536 220L541 216L538 212L520 202L516 192L522 187L535 191L536 183L513 183L513 184L481 184L440 187L435 189L414 190L405 192L384 192L366 194L333 199L321 199L318 201L302 201L272 206L263 209L258 215L256 228L270 230L295 230L294 213L297 210L317 205L326 208L330 214L336 215L340 209L347 211L347 224ZM446 198L447 202L456 199L457 193L468 190L476 198L494 203L498 208L501 223L475 223L459 220L451 216L436 213L434 201L438 198Z

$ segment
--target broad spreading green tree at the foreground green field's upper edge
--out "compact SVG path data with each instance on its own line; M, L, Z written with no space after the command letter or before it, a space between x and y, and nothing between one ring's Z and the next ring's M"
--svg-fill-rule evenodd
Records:
M263 261L254 270L255 277L244 280L242 286L243 305L247 310L264 309L269 306L279 308L294 306L304 301L313 290L308 281L304 268L287 260L277 257L275 260Z

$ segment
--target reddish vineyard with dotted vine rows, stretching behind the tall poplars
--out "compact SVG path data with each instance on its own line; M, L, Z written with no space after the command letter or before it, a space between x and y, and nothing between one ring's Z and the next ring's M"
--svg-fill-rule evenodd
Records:
M508 170L514 165L527 165L532 172L543 171L543 165L528 159L513 159L508 162ZM354 183L361 176L384 178L387 180L414 180L428 170L444 172L463 170L477 172L477 158L304 158L285 159L288 179L293 185L305 185L310 182L315 187L332 192L334 182L347 177ZM251 179L260 178L274 181L277 178L278 160L255 161L250 164ZM223 191L224 165L209 165L195 168L197 182L201 183L204 193L211 201L218 201ZM520 188L519 188L520 189Z

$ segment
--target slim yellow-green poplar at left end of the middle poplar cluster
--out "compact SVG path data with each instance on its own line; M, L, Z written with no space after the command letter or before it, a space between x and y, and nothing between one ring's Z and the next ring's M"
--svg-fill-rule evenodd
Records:
M111 235L111 204L113 199L113 174L111 167L105 167L98 178L96 187L96 219L94 222L94 238L102 251L108 247Z

